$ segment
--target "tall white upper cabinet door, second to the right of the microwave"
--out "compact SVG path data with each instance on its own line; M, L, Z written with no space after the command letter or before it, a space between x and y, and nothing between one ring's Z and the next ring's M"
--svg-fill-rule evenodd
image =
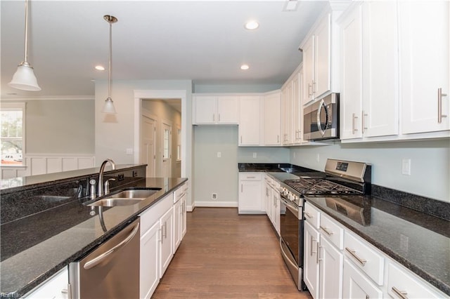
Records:
M364 137L397 135L399 60L396 1L367 1L363 12Z

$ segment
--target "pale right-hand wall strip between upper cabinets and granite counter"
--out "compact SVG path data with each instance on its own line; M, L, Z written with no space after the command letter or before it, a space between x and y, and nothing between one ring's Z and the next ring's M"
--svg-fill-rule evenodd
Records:
M450 201L450 142L428 140L293 147L290 163L323 171L327 158L372 164L372 183L423 197ZM317 161L319 154L319 161ZM411 159L411 175L401 174Z

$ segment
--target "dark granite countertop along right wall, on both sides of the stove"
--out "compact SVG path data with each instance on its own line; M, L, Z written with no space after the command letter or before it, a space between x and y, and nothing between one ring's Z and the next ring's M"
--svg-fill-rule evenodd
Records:
M258 171L263 168L267 169L266 172L271 177L281 182L301 175L320 173L290 164L238 166L239 171ZM276 168L290 173L274 171ZM332 205L327 205L326 197L307 197L306 200L393 260L450 295L450 204L377 185L372 185L372 189L373 195L342 197L347 201L364 201L364 204L368 205L368 208L364 209L364 213L368 213L366 225L331 208Z

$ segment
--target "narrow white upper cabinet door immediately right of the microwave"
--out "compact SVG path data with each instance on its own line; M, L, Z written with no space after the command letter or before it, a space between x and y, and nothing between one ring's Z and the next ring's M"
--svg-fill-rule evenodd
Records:
M361 5L342 20L340 138L361 138L362 32Z

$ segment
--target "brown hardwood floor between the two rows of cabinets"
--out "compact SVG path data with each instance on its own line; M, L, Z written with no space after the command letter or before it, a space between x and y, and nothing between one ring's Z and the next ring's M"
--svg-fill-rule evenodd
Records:
M308 298L291 279L266 215L195 208L152 298Z

